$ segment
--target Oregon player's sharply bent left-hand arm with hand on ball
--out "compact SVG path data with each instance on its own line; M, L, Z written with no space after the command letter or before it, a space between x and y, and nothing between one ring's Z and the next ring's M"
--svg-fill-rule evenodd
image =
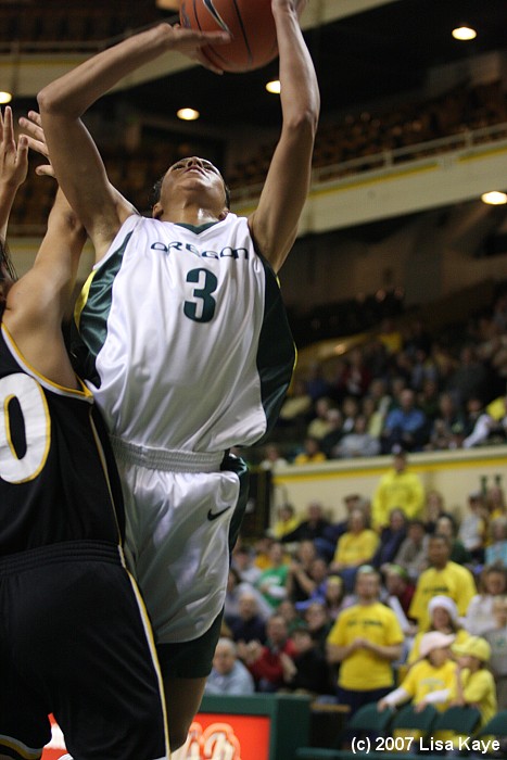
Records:
M42 127L56 178L83 220L100 258L131 215L118 202L83 114L121 79L168 50L199 60L202 46L228 41L221 31L200 33L159 24L85 61L39 92Z

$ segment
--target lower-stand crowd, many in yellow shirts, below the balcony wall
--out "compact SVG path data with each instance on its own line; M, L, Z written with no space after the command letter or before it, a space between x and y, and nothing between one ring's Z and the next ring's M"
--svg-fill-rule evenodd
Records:
M397 478L402 478L402 483ZM396 506L393 506L396 505ZM306 694L379 710L507 709L507 505L499 482L461 516L403 452L335 521L290 505L232 555L208 694Z

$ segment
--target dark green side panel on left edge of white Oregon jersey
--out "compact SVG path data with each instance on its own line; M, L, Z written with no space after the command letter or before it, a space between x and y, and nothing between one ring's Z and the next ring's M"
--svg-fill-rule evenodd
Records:
M122 245L94 269L81 291L71 329L71 354L78 373L100 388L96 359L107 335L107 317L113 301L113 282L118 274L132 232ZM97 281L96 281L97 278ZM100 282L99 282L100 280ZM86 314L86 319L81 319Z

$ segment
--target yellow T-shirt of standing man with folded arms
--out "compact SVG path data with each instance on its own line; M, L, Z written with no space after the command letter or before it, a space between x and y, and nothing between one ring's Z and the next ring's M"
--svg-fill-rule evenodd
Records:
M355 638L368 638L379 646L393 646L404 639L394 612L380 601L344 609L329 632L328 643L348 646ZM369 692L393 685L391 662L369 649L356 649L340 664L338 683L342 688Z

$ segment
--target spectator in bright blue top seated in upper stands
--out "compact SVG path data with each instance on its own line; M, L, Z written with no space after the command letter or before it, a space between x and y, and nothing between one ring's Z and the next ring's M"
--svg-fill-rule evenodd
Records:
M416 396L405 388L400 394L400 406L392 409L381 433L382 454L390 454L393 446L403 446L408 452L421 451L427 439L427 418L416 407Z

